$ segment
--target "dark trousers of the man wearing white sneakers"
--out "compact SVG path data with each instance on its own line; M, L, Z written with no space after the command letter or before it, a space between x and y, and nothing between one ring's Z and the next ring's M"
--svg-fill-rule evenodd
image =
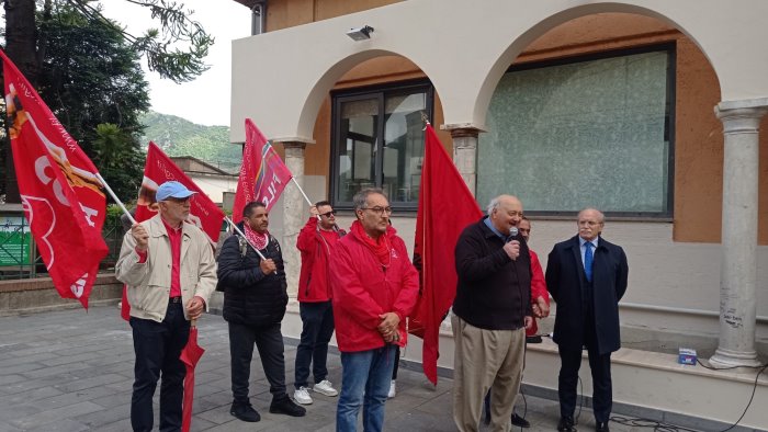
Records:
M334 336L334 308L328 302L298 304L302 317L302 339L296 348L295 382L296 389L307 387L309 364L315 384L328 376L326 360L328 357L328 341Z

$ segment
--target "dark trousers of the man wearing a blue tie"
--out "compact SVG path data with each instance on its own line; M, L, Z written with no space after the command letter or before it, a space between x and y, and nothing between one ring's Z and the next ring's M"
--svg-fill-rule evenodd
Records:
M597 422L607 422L611 416L613 394L611 387L611 353L600 354L597 348L595 320L591 314L585 319L584 340L592 373L592 410ZM576 410L576 386L581 366L583 350L558 349L561 368L557 378L561 417L574 417Z

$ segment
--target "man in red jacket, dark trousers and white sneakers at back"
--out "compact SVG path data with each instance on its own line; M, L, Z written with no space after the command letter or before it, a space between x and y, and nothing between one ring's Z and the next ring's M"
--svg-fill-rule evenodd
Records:
M328 280L328 265L336 243L345 231L336 225L336 211L327 201L315 204L309 220L298 232L296 248L302 252L302 273L298 277L298 311L302 317L302 339L296 349L295 387L293 399L312 403L308 379L309 364L315 376L314 391L326 396L339 393L326 379L328 341L334 334L334 309Z

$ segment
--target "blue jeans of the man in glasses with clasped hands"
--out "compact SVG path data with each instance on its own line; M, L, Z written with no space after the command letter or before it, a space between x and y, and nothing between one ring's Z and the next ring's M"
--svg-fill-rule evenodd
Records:
M383 430L384 403L389 393L389 380L396 360L395 345L391 344L375 350L341 353L341 395L336 410L337 432L357 431L360 406L363 407L363 431Z

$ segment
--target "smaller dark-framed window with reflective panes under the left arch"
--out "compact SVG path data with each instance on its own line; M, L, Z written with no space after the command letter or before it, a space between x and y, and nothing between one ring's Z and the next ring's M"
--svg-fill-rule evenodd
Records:
M423 161L423 121L431 120L428 83L339 92L334 99L334 203L349 208L365 187L381 187L393 207L416 208Z

